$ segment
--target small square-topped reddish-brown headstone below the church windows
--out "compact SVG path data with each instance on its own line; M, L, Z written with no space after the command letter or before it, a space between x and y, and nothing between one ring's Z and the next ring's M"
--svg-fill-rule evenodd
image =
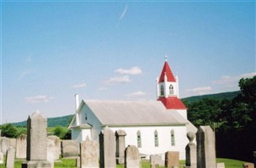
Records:
M168 151L165 153L165 167L179 167L179 151Z

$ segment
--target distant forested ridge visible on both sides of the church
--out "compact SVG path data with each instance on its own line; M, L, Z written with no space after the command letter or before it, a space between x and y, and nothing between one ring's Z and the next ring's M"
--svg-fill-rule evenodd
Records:
M182 98L182 101L187 102L196 102L203 98L213 98L213 99L229 99L231 100L233 97L236 97L237 94L240 91L236 92L221 92L216 94L209 94L209 95L202 95L202 96L195 96L195 97L185 97ZM62 117L56 117L56 118L47 118L48 121L48 127L56 127L57 125L67 127L67 124L71 121L73 115L67 115ZM27 121L19 122L19 123L13 123L14 126L24 127L27 125Z

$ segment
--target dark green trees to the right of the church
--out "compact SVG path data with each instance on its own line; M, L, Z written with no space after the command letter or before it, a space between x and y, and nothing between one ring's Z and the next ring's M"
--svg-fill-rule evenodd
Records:
M217 157L252 161L256 151L256 76L242 78L238 86L241 92L232 100L204 98L184 104L191 123L215 130Z

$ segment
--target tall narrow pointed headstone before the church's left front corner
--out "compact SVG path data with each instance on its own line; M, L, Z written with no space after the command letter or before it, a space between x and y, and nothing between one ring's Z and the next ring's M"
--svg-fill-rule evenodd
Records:
M99 134L100 167L115 167L115 134L105 127Z

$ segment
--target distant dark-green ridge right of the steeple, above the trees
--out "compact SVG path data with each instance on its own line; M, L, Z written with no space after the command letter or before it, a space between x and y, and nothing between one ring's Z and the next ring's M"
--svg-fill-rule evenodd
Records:
M216 94L208 94L208 95L201 95L201 96L195 96L195 97L185 97L181 100L184 102L196 102L204 98L211 98L216 100L222 100L222 99L228 99L232 100L234 97L237 97L237 94L240 93L240 91L234 91L234 92L221 92Z

